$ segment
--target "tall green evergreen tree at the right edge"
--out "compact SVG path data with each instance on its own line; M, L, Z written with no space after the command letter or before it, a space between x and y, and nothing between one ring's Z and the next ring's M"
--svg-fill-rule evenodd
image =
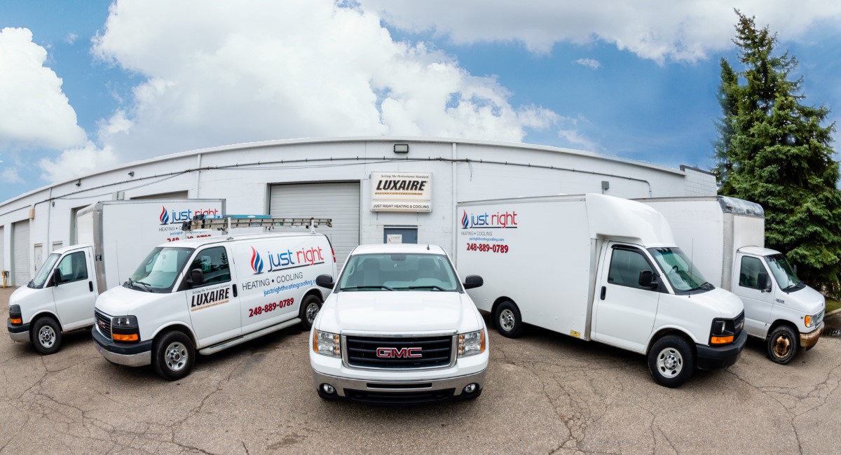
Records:
M829 109L804 104L797 60L775 54L776 34L738 14L736 39L743 71L722 59L717 124L720 191L765 209L765 243L799 264L808 284L841 290L841 192L833 160L835 125Z

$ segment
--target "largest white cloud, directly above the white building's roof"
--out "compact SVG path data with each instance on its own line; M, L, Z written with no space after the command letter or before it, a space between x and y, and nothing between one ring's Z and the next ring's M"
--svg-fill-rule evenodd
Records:
M332 0L120 0L93 54L143 76L74 170L265 139L426 135L519 142L558 114L514 106L493 77L395 41L376 13ZM66 177L65 177L66 178Z

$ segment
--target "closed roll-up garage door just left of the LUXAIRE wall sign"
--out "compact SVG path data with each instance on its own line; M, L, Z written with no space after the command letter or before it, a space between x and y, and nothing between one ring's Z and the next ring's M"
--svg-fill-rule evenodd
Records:
M359 244L359 182L272 185L269 214L333 218L333 227L317 230L330 238L341 269L347 254Z

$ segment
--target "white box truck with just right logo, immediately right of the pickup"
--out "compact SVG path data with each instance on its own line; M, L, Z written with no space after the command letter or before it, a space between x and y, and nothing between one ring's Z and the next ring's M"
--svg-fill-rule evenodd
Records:
M653 378L676 387L694 369L738 360L743 306L710 285L651 207L595 194L458 204L462 275L506 337L523 324L648 355Z

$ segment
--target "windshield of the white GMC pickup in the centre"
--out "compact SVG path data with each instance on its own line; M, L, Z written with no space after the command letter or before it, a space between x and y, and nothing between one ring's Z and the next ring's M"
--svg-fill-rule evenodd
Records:
M339 290L459 290L442 254L357 254L348 259Z

